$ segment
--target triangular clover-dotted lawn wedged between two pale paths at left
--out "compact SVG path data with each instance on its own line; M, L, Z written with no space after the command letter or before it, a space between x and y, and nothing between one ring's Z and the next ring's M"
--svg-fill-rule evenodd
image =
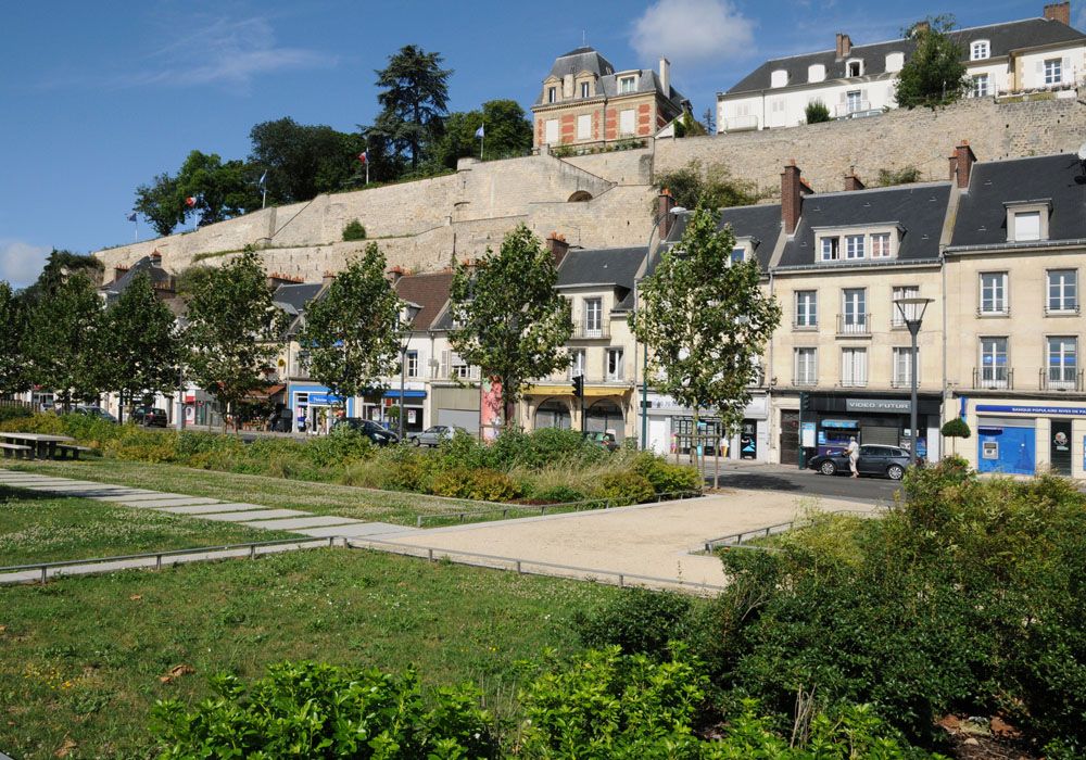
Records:
M291 537L0 485L0 567Z

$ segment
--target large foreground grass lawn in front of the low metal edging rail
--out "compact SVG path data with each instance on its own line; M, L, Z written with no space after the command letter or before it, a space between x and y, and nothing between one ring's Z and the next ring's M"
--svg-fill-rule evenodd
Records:
M206 677L315 659L472 680L501 710L518 660L576 647L570 621L618 590L352 549L313 549L0 588L0 751L153 755L156 699ZM177 666L194 670L166 682Z

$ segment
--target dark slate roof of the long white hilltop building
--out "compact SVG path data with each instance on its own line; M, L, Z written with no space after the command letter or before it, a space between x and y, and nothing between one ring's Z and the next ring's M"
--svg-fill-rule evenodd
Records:
M990 42L990 58L1007 55L1012 50L1036 48L1055 42L1086 42L1086 35L1058 21L1048 18L1026 18L1003 24L975 26L968 29L957 29L950 35L957 39L969 60L970 43L973 40L986 39ZM893 52L905 53L906 60L912 55L917 43L911 39L895 39L872 45L854 45L845 59L836 60L836 49L822 50L817 53L805 53L788 58L767 61L746 77L729 89L727 96L748 93L759 90L787 90L797 86L819 86L832 79L845 77L845 63L850 59L862 59L863 77L873 77L886 73L886 55ZM825 80L808 83L808 66L821 63L825 66ZM772 88L770 78L774 71L784 69L788 73L788 86Z

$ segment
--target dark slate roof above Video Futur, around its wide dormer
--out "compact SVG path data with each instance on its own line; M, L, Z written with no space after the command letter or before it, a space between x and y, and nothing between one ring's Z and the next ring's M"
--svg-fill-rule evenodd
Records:
M939 257L939 238L950 200L950 182L921 182L892 188L807 195L799 226L784 245L780 268L818 265L849 267L857 262L821 262L815 251L816 227L898 225L901 239L894 262L923 262ZM871 264L871 259L863 259Z

